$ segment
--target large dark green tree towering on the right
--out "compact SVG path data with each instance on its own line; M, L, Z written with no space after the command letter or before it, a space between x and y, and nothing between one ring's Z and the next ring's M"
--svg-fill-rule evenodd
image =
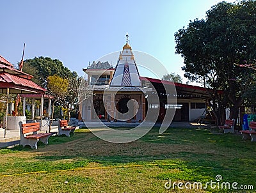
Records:
M175 33L176 54L184 58L184 76L207 88L217 118L230 107L230 118L237 119L244 93L255 81L252 69L239 66L256 58L255 7L252 0L221 2L207 11L205 20L190 21Z

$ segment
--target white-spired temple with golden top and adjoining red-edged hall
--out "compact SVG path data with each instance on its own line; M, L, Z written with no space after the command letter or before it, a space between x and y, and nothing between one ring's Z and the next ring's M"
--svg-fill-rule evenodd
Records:
M156 109L157 121L163 121L168 109L175 109L173 121L195 121L205 112L205 88L141 77L128 35L115 68L108 61L99 61L83 71L94 93L80 109L84 121L141 122L148 109ZM170 98L176 101L170 104Z

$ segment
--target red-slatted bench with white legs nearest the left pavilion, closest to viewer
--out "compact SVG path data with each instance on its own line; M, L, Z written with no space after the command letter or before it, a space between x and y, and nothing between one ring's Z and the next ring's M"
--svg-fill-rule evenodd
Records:
M48 138L54 133L37 133L40 130L40 122L38 123L22 123L19 122L20 126L20 145L23 147L26 145L31 148L37 149L38 141L42 141L44 144L48 144Z

